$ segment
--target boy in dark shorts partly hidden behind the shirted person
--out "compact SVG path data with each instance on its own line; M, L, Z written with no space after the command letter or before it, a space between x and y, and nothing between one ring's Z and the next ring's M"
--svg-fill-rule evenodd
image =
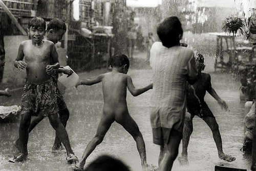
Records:
M190 135L193 132L192 120L195 116L200 117L210 127L212 131L212 136L214 137L214 141L217 146L219 158L229 162L234 161L236 160L236 158L223 153L219 125L216 121L215 116L212 114L208 105L204 101L206 91L218 101L219 105L223 109L227 110L228 105L218 96L215 89L211 87L210 74L202 72L205 68L204 57L202 54L197 55L196 65L198 69L198 78L196 79L195 84L190 85L189 83L187 83L186 85L187 113L183 131L182 153L181 157L179 157L179 162L181 165L188 165L187 146Z

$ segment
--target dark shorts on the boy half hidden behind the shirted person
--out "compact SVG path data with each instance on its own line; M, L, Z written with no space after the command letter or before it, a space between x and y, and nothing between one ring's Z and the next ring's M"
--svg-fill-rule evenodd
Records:
M214 114L211 112L210 108L205 105L200 108L187 108L187 112L191 114L191 117L194 118L195 116L198 116L199 118L204 118L204 117L211 117L215 118Z

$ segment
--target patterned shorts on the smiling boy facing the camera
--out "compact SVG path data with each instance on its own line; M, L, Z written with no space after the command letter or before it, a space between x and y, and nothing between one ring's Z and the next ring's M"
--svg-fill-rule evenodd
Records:
M22 94L22 112L38 116L41 111L44 117L58 113L57 87L53 79L41 84L26 83Z

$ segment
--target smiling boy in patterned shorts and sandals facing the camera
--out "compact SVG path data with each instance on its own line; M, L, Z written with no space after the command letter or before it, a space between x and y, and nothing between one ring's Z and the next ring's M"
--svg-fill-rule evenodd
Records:
M44 117L49 118L50 124L64 144L68 162L76 162L77 158L71 148L67 131L58 117L57 85L54 80L54 70L59 68L58 53L53 42L43 40L46 30L44 19L32 18L27 30L31 40L20 43L14 62L16 68L27 71L27 83L22 95L22 119L19 125L20 154L10 161L26 160L31 117L40 110Z

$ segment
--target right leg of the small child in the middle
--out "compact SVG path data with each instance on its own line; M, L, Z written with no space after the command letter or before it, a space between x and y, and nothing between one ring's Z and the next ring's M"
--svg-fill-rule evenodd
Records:
M139 130L139 127L137 123L133 120L133 118L129 115L129 113L126 113L125 115L120 115L116 118L116 122L121 124L123 128L129 132L137 144L137 149L139 151L140 159L141 159L141 165L143 170L149 170L152 169L152 165L148 165L146 162L146 148L145 148L145 142L143 140L142 134Z

